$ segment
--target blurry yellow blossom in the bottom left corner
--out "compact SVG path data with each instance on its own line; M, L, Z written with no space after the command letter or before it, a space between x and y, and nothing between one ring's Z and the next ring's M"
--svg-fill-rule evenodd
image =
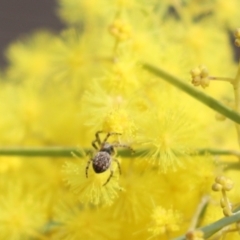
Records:
M0 238L1 239L41 239L39 229L44 227L47 214L44 201L38 201L36 191L25 192L26 186L19 181L11 181L1 189ZM28 189L30 190L30 189Z

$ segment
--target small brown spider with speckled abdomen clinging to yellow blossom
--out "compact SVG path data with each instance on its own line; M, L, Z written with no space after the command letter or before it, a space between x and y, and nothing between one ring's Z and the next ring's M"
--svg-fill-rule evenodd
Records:
M113 168L112 168L112 161L115 161L118 165L119 173L121 174L121 167L120 163L116 158L113 158L115 147L124 147L129 148L133 151L133 149L125 144L120 143L108 143L107 140L112 135L121 135L121 133L116 132L109 132L107 133L104 140L101 142L99 134L103 133L103 131L98 131L95 134L96 139L92 142L92 146L97 150L97 153L88 161L86 166L86 177L88 177L88 169L90 166L90 163L92 162L93 170L95 173L102 173L105 172L108 168L110 168L110 175L107 179L107 181L103 184L106 185L111 177L113 176ZM98 146L97 146L98 145Z

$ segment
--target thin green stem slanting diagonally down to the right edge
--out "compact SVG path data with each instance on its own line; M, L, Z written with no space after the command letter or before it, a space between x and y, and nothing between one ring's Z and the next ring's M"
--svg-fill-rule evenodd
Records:
M196 90L192 86L184 83L182 80L178 79L175 76L170 75L169 73L152 66L148 63L142 63L144 69L148 70L150 73L163 78L165 81L173 84L175 87L181 89L185 93L189 94L193 98L197 99L198 101L202 102L206 106L210 107L211 109L215 110L216 112L224 115L225 117L231 119L236 123L240 123L240 114L227 108L222 103L218 102L214 98Z

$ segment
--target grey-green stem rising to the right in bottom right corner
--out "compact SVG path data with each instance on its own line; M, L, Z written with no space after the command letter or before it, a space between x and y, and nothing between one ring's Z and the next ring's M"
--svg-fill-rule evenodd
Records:
M212 224L209 224L205 227L201 227L198 230L204 232L204 239L205 239L205 238L211 237L214 233L218 232L222 228L239 221L240 221L240 212L236 212L229 217L224 217ZM174 240L185 240L185 239L186 239L185 236L180 236L175 238Z

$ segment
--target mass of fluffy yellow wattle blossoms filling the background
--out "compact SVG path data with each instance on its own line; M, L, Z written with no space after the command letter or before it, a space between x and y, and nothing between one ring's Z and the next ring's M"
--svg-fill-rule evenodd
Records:
M0 239L202 239L196 228L222 216L213 179L223 171L236 185L240 178L226 168L230 157L200 150L236 149L235 126L216 122L212 110L151 75L143 62L186 84L189 68L200 62L230 74L236 63L226 26L239 15L231 3L58 0L66 29L37 31L8 47L0 74L1 147L78 151L1 157ZM238 44L239 31L235 36ZM212 79L203 65L191 75L203 88ZM221 84L208 91L229 95ZM97 142L121 133L107 143L131 146L135 154L115 147L110 167L96 173L97 131ZM213 189L225 194L231 185L225 180L217 178ZM235 201L238 188L231 194ZM196 220L204 196L209 204Z

